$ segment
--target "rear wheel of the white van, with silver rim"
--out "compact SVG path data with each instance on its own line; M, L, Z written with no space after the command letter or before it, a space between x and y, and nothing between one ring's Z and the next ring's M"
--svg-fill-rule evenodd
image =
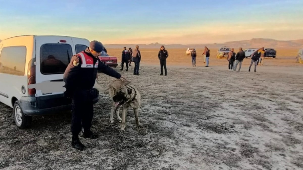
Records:
M15 123L20 129L25 129L32 123L32 117L25 116L23 114L22 108L18 100L14 104L14 117Z

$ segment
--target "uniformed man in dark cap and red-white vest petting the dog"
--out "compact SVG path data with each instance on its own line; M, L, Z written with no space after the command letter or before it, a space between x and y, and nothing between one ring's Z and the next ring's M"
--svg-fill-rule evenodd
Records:
M93 110L93 98L98 97L98 91L92 88L96 81L97 70L115 77L124 79L121 74L106 65L99 59L104 50L99 41L90 42L84 51L72 56L71 62L65 70L63 81L65 82L66 96L72 98L72 147L83 151L85 146L79 141L79 133L84 128L83 137L95 139L98 135L91 131Z

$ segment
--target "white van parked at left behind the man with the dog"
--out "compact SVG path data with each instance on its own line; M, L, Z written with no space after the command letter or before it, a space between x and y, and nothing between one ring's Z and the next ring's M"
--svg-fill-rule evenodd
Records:
M16 125L23 129L32 116L71 110L63 92L42 94L29 84L63 81L71 57L89 46L84 38L24 35L0 42L0 102L13 108Z

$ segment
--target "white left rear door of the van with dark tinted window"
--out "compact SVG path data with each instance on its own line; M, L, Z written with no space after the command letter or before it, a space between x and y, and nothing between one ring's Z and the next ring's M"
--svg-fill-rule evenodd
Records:
M36 43L36 82L63 81L63 74L70 63L75 47L70 37L37 36ZM35 96L60 94L53 92L42 94L36 89Z

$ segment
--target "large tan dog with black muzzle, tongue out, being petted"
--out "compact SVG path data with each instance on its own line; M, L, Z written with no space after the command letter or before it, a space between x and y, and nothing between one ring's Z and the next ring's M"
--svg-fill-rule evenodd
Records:
M127 109L132 107L134 109L136 124L138 128L142 128L143 125L139 122L139 107L141 105L141 94L138 88L130 81L116 79L108 83L106 88L102 88L97 80L94 88L99 92L109 91L109 96L112 98L112 110L110 116L110 123L114 123L114 112L116 112L117 119L121 122L120 133L125 133L125 115ZM122 108L122 119L119 116L119 111Z

